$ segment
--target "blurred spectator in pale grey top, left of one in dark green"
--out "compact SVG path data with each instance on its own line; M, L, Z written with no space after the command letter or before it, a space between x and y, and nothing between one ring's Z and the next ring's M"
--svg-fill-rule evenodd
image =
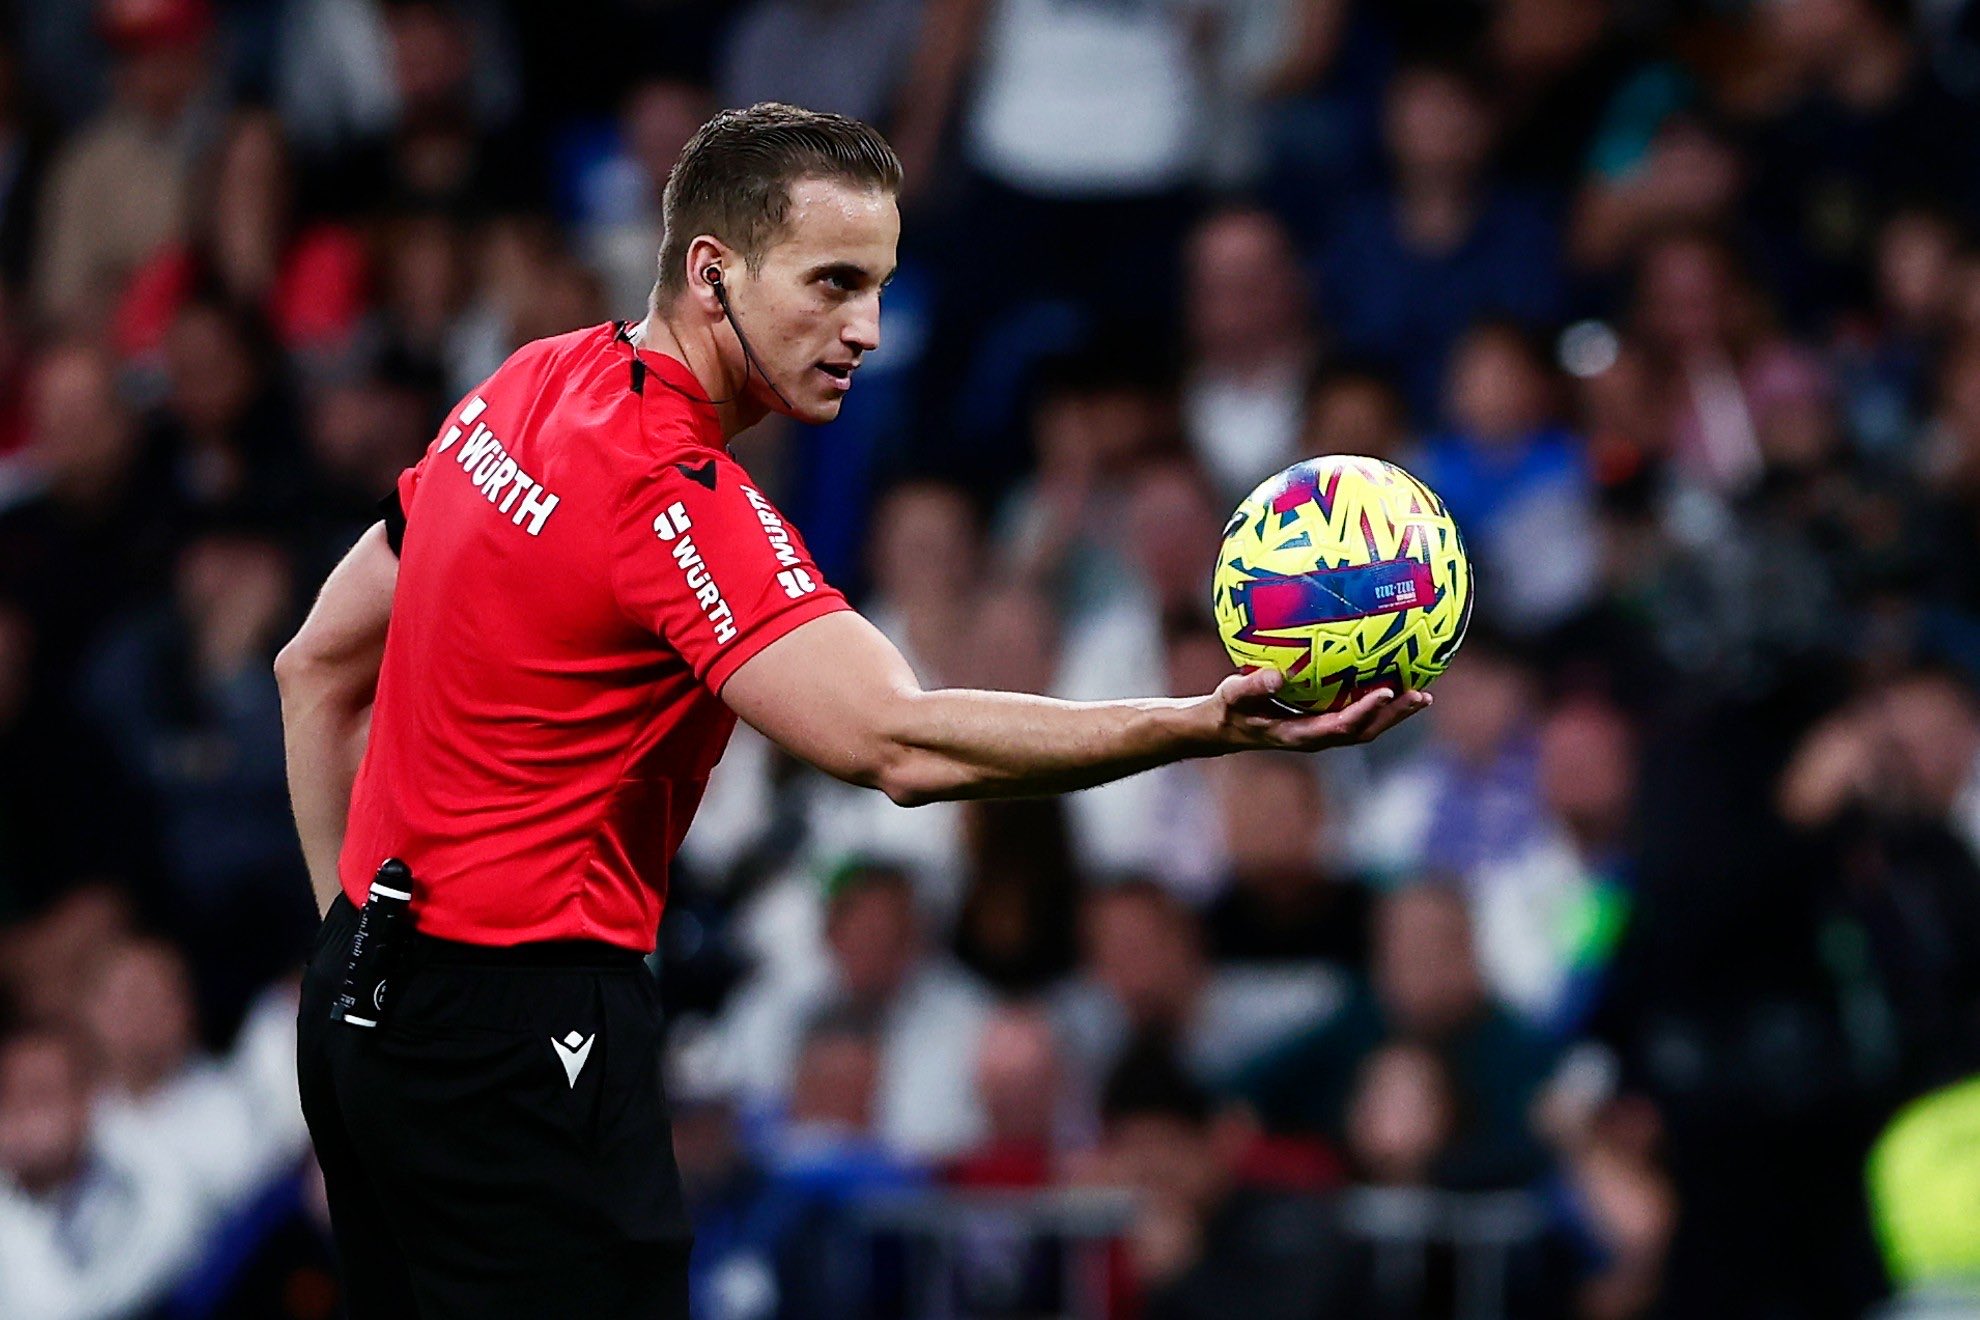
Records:
M1319 968L1218 968L1196 918L1152 881L1087 895L1079 976L1053 997L1061 1039L1085 1084L1131 1041L1162 1037L1200 1084L1285 1041L1338 1001Z

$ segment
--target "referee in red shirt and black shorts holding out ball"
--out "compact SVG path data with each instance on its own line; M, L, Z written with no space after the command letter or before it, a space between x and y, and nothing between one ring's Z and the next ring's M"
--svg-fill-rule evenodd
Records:
M923 691L727 449L770 412L838 416L899 184L838 115L703 125L647 317L527 344L461 400L275 663L327 908L303 1112L352 1320L687 1316L642 958L739 716L913 805L1362 742L1430 703L1281 718L1271 673L1192 701ZM390 995L333 1021L386 859L412 893Z

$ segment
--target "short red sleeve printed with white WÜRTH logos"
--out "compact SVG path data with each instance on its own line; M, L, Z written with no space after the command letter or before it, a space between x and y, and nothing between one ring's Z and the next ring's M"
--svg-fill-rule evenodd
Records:
M642 473L620 501L612 534L620 608L717 693L784 633L847 608L798 528L727 455L689 455Z

